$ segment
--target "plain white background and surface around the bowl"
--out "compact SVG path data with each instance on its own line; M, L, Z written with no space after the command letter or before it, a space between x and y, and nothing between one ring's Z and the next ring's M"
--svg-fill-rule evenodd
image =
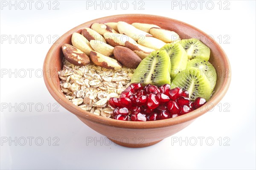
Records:
M201 7L198 1L137 1L135 10L134 1L128 1L126 10L124 3L120 6L122 1L118 1L116 10L113 1L110 1L112 8L109 10L104 9L109 8L109 4L104 6L104 1L102 6L96 6L96 10L95 4L87 6L88 1L43 1L41 10L37 9L41 8L40 3L35 6L36 1L32 1L31 10L29 2L23 2L26 4L24 10L21 9L24 3L19 1L16 1L17 9L10 6L9 1L1 1L1 169L256 168L254 0L203 1ZM15 1L12 3L15 4ZM181 6L181 3L187 5ZM214 7L210 9L212 4ZM141 5L144 9L139 10ZM58 9L53 10L54 6ZM198 27L220 43L232 67L230 88L213 111L199 117L174 136L151 147L138 149L109 144L105 136L55 105L41 77L44 57L55 35L61 36L71 28L99 17L129 13L170 17ZM33 36L31 42L30 35ZM14 38L10 42L9 36ZM35 39L36 36L38 39ZM44 38L42 42L40 37ZM31 75L27 69L31 69ZM32 103L31 109L29 103ZM41 109L41 106L44 108ZM15 142L10 142L15 141L15 137L17 146ZM29 137L32 137L31 144ZM22 146L24 138L26 144ZM187 144L180 143L186 138ZM40 139L44 143L38 146ZM197 144L193 146L195 139Z

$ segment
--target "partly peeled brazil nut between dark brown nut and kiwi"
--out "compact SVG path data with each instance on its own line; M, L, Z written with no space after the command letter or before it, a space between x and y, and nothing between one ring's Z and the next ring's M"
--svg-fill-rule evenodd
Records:
M152 51L155 51L152 48L145 47L140 44L132 44L129 41L125 42L125 47L130 48L132 51L134 51L135 54L137 54L141 59L144 59L147 57Z

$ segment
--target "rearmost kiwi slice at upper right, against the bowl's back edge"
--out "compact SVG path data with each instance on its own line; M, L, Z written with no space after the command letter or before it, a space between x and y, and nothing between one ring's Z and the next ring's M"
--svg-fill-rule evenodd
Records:
M196 38L183 39L180 41L188 54L188 59L201 58L208 61L210 58L210 48Z

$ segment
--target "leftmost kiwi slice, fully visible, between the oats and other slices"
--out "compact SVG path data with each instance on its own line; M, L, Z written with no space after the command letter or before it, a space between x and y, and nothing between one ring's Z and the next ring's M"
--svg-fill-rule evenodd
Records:
M143 85L164 85L171 84L170 57L164 50L153 51L144 58L131 78L131 82L140 82Z

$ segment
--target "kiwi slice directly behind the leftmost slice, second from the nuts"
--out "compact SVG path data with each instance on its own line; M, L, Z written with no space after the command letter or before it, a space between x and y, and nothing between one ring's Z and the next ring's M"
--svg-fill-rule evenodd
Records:
M180 43L171 44L168 43L164 45L160 50L165 50L171 60L171 79L174 79L179 71L185 70L187 65L187 54L185 49Z

